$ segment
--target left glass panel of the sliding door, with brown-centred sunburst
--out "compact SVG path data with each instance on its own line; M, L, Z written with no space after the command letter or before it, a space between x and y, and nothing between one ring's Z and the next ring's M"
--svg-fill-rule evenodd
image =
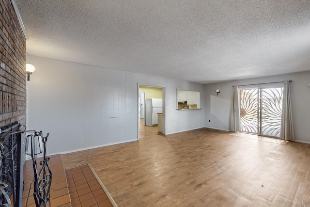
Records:
M240 124L241 131L258 133L258 89L241 89L240 93Z

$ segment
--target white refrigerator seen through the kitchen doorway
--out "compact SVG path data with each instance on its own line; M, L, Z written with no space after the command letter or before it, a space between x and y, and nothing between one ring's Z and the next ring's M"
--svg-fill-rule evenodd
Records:
M163 112L163 99L148 98L145 100L145 125L156 126L158 124L157 113Z

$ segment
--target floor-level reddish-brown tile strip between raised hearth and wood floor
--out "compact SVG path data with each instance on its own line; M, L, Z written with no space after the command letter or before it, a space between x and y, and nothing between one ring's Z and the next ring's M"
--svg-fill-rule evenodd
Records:
M113 207L88 165L65 170L72 207Z

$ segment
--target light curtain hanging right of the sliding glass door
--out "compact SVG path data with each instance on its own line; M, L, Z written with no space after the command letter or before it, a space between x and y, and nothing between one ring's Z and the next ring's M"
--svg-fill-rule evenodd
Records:
M294 141L290 81L284 81L280 139Z

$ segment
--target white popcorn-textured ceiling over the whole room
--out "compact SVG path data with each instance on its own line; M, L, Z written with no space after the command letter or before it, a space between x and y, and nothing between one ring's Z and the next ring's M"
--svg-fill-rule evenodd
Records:
M40 56L211 83L310 70L309 0L16 0Z

